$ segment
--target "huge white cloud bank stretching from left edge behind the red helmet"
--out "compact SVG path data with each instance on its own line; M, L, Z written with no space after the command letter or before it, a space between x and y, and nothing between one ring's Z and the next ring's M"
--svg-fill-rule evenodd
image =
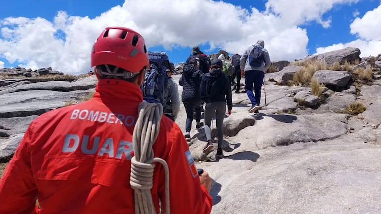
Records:
M83 73L90 69L90 51L96 37L106 26L114 25L137 30L148 48L162 45L170 50L207 44L211 50L242 53L248 45L263 39L271 60L294 60L307 55L307 32L298 25L316 21L328 28L331 19L322 19L325 12L334 4L357 1L268 0L266 10L261 12L212 0L186 4L182 0L125 0L122 6L93 19L69 16L64 11L58 11L52 22L40 17L9 17L0 20L0 56L32 69L52 67L64 73ZM354 29L358 34L362 32Z

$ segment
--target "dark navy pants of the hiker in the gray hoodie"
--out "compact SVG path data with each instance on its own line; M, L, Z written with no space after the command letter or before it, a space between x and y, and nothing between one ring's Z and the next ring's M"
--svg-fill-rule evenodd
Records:
M250 99L252 106L259 106L261 102L261 87L263 84L263 78L265 78L265 73L263 71L245 71L245 89L247 97Z

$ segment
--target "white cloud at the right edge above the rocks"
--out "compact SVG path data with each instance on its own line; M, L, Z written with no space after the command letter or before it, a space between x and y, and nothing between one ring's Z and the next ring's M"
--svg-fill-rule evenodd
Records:
M381 5L372 11L368 11L363 17L357 17L350 24L350 33L359 38L348 42L338 43L327 47L319 47L316 54L322 54L327 51L342 49L345 47L356 47L361 51L361 57L377 56L381 53Z

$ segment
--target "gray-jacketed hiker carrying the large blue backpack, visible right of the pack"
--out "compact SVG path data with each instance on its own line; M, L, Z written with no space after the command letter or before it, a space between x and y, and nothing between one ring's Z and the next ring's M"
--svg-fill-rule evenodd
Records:
M173 74L172 67L171 69L167 69L167 90L166 90L166 105L164 107L164 115L172 119L173 121L176 120L177 115L180 111L180 99L179 99L179 92L177 89L177 84L172 78Z

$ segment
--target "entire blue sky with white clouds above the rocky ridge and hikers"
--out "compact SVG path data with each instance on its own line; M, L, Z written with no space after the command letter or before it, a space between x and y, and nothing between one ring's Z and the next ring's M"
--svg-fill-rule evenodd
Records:
M242 53L265 40L272 60L294 60L346 46L381 53L380 0L12 0L1 3L0 68L90 70L91 45L108 25L140 32L149 50L185 61ZM21 6L22 5L22 6ZM118 6L119 5L119 6ZM9 18L13 17L13 18ZM25 18L17 18L25 17ZM40 18L37 18L40 17ZM152 18L154 17L154 18Z

